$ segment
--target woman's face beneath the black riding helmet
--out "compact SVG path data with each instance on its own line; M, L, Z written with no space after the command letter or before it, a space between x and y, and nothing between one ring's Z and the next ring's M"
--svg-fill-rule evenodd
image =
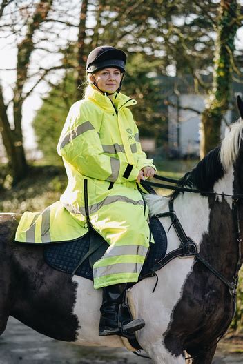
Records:
M95 72L94 77L98 88L111 94L119 88L122 72L118 68L104 68Z

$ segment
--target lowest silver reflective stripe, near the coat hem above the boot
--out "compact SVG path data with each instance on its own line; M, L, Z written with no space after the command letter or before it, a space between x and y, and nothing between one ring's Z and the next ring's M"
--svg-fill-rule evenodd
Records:
M142 270L141 263L117 263L94 269L94 278L108 276L108 274L139 273Z

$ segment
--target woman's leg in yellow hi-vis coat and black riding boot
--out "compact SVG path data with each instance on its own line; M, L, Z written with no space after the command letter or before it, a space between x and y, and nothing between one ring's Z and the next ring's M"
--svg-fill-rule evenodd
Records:
M93 216L92 223L110 244L94 265L95 288L103 287L99 334L126 336L126 332L129 334L144 327L142 319L122 317L119 323L118 314L126 283L137 282L148 252L150 232L143 201L129 205L117 202L101 208L99 219Z

